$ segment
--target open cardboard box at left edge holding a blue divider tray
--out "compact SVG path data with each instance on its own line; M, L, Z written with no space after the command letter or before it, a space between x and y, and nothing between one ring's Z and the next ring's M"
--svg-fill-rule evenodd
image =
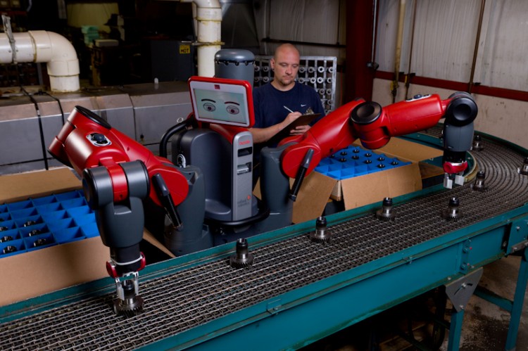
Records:
M3 175L0 176L0 204L75 189L81 189L80 179L65 167ZM0 255L0 305L108 276L105 262L109 257L109 250L99 235L17 255Z

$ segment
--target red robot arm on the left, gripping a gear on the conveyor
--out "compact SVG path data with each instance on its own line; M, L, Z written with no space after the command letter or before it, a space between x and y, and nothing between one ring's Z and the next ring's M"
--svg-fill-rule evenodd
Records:
M143 305L137 273L145 266L139 251L143 200L149 197L165 208L172 224L180 226L175 205L187 197L187 179L168 160L81 106L75 106L49 152L82 175L84 196L96 211L103 244L110 248L106 267L115 279L115 312L134 314ZM120 277L125 278L120 281Z

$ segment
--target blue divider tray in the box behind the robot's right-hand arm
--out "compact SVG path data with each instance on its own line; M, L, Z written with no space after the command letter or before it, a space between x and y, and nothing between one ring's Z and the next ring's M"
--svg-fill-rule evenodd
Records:
M360 146L347 146L327 158L323 158L315 171L337 180L359 177L365 174L410 165L384 153L375 153Z

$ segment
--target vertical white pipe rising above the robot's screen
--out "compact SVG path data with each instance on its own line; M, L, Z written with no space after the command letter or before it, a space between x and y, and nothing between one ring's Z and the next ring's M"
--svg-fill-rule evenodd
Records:
M215 54L221 49L222 8L218 0L181 0L192 2L196 36L198 37L198 75L215 75Z

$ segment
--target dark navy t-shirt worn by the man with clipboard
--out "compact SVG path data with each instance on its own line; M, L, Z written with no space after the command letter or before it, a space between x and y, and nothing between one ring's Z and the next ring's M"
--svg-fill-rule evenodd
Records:
M319 119L325 115L317 91L297 82L288 91L275 89L271 83L253 89L253 106L255 110L253 127L256 128L271 127L282 122L290 113L287 108L300 113L306 113L308 108L312 108L314 113L321 114Z

